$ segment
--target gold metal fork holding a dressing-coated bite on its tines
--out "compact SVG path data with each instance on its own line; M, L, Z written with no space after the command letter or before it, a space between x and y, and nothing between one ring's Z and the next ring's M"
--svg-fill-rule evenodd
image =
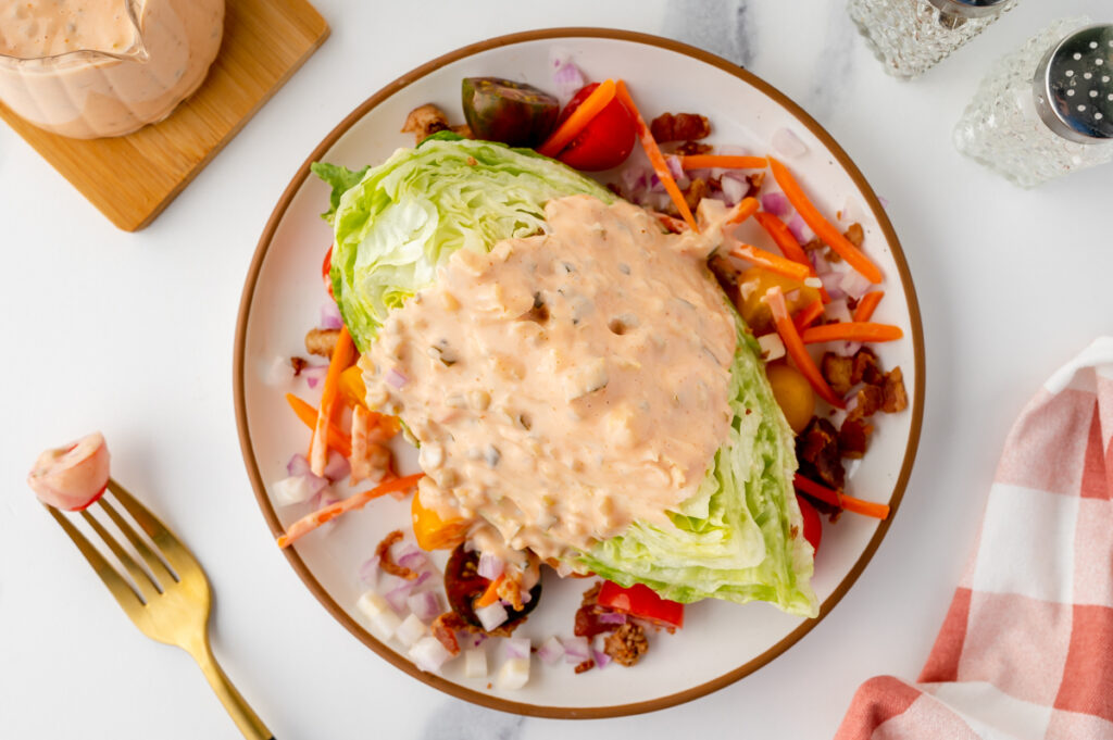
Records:
M107 501L107 493L100 497L96 505L124 533L147 564L147 571L136 563L88 510L82 511L81 516L124 564L135 588L61 512L53 506L47 506L47 510L66 530L136 626L151 640L177 645L194 657L244 737L248 740L274 740L274 736L232 685L213 657L208 641L211 595L200 563L186 545L116 481L109 480L108 490L155 543L158 554L151 551L147 542Z

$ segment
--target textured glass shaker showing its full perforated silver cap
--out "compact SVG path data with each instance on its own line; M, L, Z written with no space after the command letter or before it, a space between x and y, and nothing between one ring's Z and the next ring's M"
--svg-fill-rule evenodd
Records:
M1113 24L1060 20L1001 59L954 138L1023 187L1113 160Z

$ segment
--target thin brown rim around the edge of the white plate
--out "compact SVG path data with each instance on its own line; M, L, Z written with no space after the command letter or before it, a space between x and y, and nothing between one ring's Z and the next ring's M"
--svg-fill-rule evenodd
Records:
M358 120L361 120L368 111L375 108L383 100L390 98L395 92L398 92L403 88L413 83L414 81L425 77L430 72L444 67L445 65L452 63L460 59L464 59L472 55L479 53L481 51L486 51L489 49L495 49L499 47L512 46L515 43L522 43L525 41L538 41L544 39L560 39L560 38L604 38L613 39L617 41L630 41L634 43L643 43L647 46L658 47L661 49L667 49L677 53L681 53L688 57L693 57L705 63L712 67L717 67L735 77L741 79L743 82L757 88L768 97L772 98L779 105L785 107L792 116L796 117L804 126L808 128L820 141L830 150L830 152L838 160L839 165L850 175L854 184L858 189L865 195L866 200L869 205L869 209L873 211L874 216L877 218L878 224L881 227L881 231L885 234L886 241L893 251L893 259L896 262L897 270L900 274L900 283L904 286L905 298L908 305L908 314L912 320L912 341L913 349L915 354L915 365L916 365L916 387L913 392L913 404L912 404L912 426L908 433L908 444L905 447L904 464L900 467L900 475L897 478L896 485L893 487L893 495L889 499L890 514L889 517L877 525L877 531L874 536L869 540L866 549L859 555L857 562L847 573L846 578L838 584L830 596L819 608L819 614L807 622L800 624L798 628L792 630L788 635L781 639L777 644L772 645L764 653L757 658L743 663L737 669L723 673L722 675L701 683L691 689L684 691L678 691L677 693L671 693L666 697L659 697L657 699L651 699L648 701L632 702L629 704L615 704L611 707L588 707L588 708L575 708L575 707L545 707L539 704L526 704L516 701L509 701L499 697L493 697L479 691L473 691L466 689L457 683L453 683L446 679L441 678L434 673L426 673L418 670L412 662L406 660L403 655L391 650L382 642L380 642L375 637L373 637L366 629L363 628L358 622L348 616L347 612L341 608L339 604L332 598L332 595L321 585L313 573L306 566L305 561L298 555L297 551L293 547L287 547L283 551L289 564L297 572L305 585L308 586L309 591L317 598L325 609L347 630L354 634L361 642L378 653L383 659L394 664L396 668L410 673L414 678L424 681L429 685L440 689L447 694L470 701L475 704L481 704L483 707L489 707L491 709L498 709L504 712L512 712L515 714L526 714L531 717L549 717L555 719L599 719L605 717L623 717L628 714L639 714L642 712L657 711L659 709L664 709L667 707L673 707L676 704L683 703L686 701L691 701L692 699L698 699L699 697L717 691L735 681L749 675L754 671L758 670L762 665L767 664L772 659L780 655L782 652L788 650L794 643L800 640L805 634L807 634L816 624L819 623L830 611L835 608L846 592L849 591L854 582L858 580L866 564L873 558L874 552L880 545L881 540L885 537L885 533L889 529L889 524L893 522L896 515L897 509L899 507L900 500L904 497L905 486L908 484L908 477L912 475L913 461L916 457L916 447L919 443L919 431L920 423L924 415L924 386L925 386L925 367L924 367L924 333L920 322L919 314L919 303L916 300L916 290L912 283L912 276L908 273L908 265L905 262L904 251L900 249L900 243L897 240L896 233L893 230L893 225L889 223L888 217L885 214L885 209L878 201L877 196L874 194L873 188L866 181L866 178L861 175L855 164L850 160L849 156L843 150L843 148L836 144L835 139L831 138L819 124L815 121L807 112L804 111L800 106L788 99L782 92L770 86L765 80L754 76L752 73L746 71L741 67L727 61L720 57L712 53L697 49L696 47L688 46L687 43L681 43L679 41L673 41L671 39L663 39L657 36L651 36L648 33L637 33L633 31L605 29L605 28L550 28L540 29L535 31L524 31L520 33L510 33L508 36L500 36L493 39L487 39L485 41L480 41L477 43L472 43L466 47L456 49L455 51L450 51L449 53L437 57L432 61L429 61L416 69L406 72L398 79L386 85L384 88L378 90L375 95L367 98L363 103L361 103L355 110L348 114L347 118L341 121L336 128L334 128L328 136L314 149L306 160L298 168L297 174L290 180L289 185L286 186L286 190L283 193L282 198L278 200L278 205L275 206L274 211L270 214L269 220L267 220L266 227L263 229L263 235L259 237L258 246L255 249L255 256L252 259L250 268L247 273L247 279L244 284L244 293L239 302L239 317L236 322L236 351L234 357L233 367L233 385L235 392L236 401L236 426L239 432L239 446L244 455L244 463L247 466L247 474L252 480L252 487L255 489L255 497L258 501L259 509L263 510L263 515L267 520L267 525L270 527L270 532L277 536L282 534L283 526L278 522L278 516L275 514L274 506L270 504L270 500L267 496L266 486L259 475L259 468L257 461L255 460L254 448L252 447L252 438L247 428L247 410L244 402L244 346L247 337L247 320L248 314L250 312L252 298L255 294L255 284L258 279L259 269L263 265L263 259L266 256L267 248L270 246L270 241L274 238L275 231L278 229L278 225L282 223L283 217L286 215L286 210L289 207L290 201L297 194L302 184L305 181L306 177L309 175L309 164L318 160L324 154L332 148L334 144Z

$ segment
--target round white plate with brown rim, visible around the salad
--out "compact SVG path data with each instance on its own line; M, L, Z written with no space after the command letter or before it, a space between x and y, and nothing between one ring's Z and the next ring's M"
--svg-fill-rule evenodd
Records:
M450 117L460 119L463 77L508 77L551 89L549 55L554 46L572 52L591 79L626 79L647 119L666 110L699 111L712 121L712 141L749 146L755 152L768 151L777 130L791 129L808 151L788 164L817 205L835 214L850 204L855 220L865 228L864 248L886 276L886 297L875 320L902 326L906 335L903 341L881 345L878 354L885 367L903 368L912 405L905 413L875 417L877 431L870 451L855 471L848 492L888 502L895 512L919 435L923 338L904 256L861 174L799 107L730 62L656 37L600 29L552 29L461 49L388 85L321 144L275 208L244 288L235 368L244 458L272 530L277 534L306 513L302 506L276 510L267 491L268 484L285 477L286 461L303 450L307 440L306 428L294 418L283 394L295 391L309 399L318 395L302 381L290 387L268 384L275 358L304 354L303 337L316 324L325 299L317 275L332 233L318 214L327 207L328 189L307 176L308 164L321 159L356 169L382 161L397 147L412 146L412 138L398 134L398 129L406 114L425 102L437 103L450 111ZM355 609L365 589L357 576L361 564L388 531L408 531L407 522L407 502L381 500L348 514L332 531L314 533L286 552L309 590L364 644L432 685L506 711L603 717L660 709L752 672L818 622L788 616L766 603L702 602L688 606L682 631L652 637L650 652L633 669L608 667L574 674L572 665L550 668L534 660L532 678L524 689L491 690L490 679L463 678L463 661L446 664L443 675L418 671L400 644L384 643L370 633ZM823 602L820 619L850 588L887 529L888 522L853 514L844 515L836 525L825 523L812 582ZM543 603L519 635L532 638L534 644L551 634L571 637L572 615L583 589L583 581L546 578ZM498 652L489 650L492 669L501 663ZM614 680L615 674L621 680Z

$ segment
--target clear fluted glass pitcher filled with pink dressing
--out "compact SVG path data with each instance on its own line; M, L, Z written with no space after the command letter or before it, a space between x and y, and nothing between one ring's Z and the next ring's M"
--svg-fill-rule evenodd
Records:
M160 121L205 79L225 0L0 0L0 101L62 136Z

